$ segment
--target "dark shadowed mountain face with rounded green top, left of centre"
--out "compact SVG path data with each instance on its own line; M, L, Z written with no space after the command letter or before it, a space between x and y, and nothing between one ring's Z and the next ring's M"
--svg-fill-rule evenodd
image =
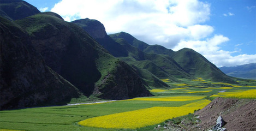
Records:
M46 64L89 96L101 77L95 62L97 44L81 28L56 15L40 13L16 23L31 35L33 46Z

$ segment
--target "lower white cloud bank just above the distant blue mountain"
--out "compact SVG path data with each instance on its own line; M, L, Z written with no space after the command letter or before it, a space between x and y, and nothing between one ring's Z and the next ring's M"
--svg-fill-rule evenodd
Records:
M180 50L183 47L189 47L206 57L210 62L215 64L217 67L222 66L235 66L248 63L256 63L256 55L237 55L232 56L232 53L239 52L241 49L236 49L235 51L224 51L221 50L219 45L229 41L229 38L223 35L215 35L214 37L207 40L188 40L181 41L174 50ZM241 45L241 44L240 44ZM239 46L239 45L237 45Z

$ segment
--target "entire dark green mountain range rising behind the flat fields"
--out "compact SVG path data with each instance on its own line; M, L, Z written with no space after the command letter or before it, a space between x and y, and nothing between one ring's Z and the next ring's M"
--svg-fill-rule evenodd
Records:
M172 51L102 23L66 22L20 0L0 2L1 110L65 104L72 98L128 99L198 77L236 83L192 49Z

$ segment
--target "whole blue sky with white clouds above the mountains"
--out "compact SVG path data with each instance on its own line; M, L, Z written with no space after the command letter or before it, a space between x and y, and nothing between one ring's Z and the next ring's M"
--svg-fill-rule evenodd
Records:
M193 49L217 67L256 63L256 0L25 0L66 21L96 19L108 34Z

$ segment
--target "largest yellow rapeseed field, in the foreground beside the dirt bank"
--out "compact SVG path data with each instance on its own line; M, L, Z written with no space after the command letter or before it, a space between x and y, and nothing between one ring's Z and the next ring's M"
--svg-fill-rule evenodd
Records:
M99 116L80 121L78 124L98 128L136 129L150 126L173 117L193 113L198 107L153 107Z

